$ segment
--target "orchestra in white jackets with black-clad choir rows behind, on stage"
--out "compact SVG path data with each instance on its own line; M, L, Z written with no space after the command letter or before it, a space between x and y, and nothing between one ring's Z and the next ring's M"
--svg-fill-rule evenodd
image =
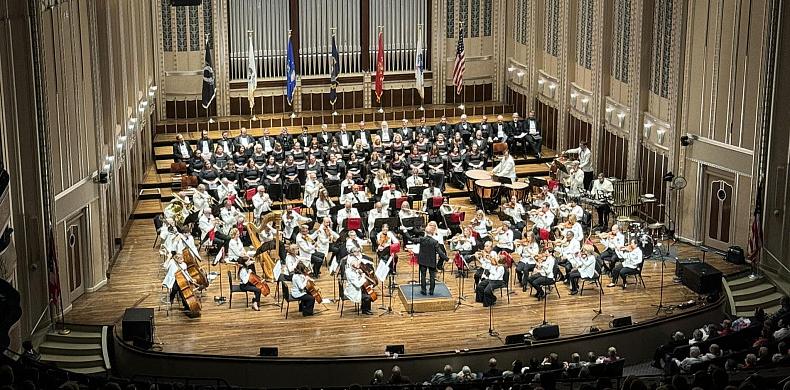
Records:
M515 183L511 151L521 146L525 154L530 149L541 157L541 128L533 112L525 120L515 113L508 122L497 115L494 123L483 117L475 124L463 115L454 126L443 118L431 127L421 118L416 127L403 119L397 129L381 122L381 128L373 132L360 122L353 131L341 124L334 134L326 125L320 133L302 128L295 138L283 128L276 137L264 129L263 136L255 139L243 128L235 138L224 131L216 141L207 132L192 144L181 134L175 139L174 161L186 163L187 172L197 176L199 184L174 194L157 231L162 252L169 254L163 265L163 285L170 289L171 301L182 294L176 275L183 273L184 279L194 283L182 256L193 250L189 246L192 237L182 233L191 228L200 232L199 241L208 250L224 250L213 265L222 261L223 267L237 267L240 288L255 296L253 310L260 310L261 295L268 293L258 280L264 284L286 281L305 316L315 312L318 300L313 289L324 264L330 265L329 279L335 276L341 281L345 297L360 304L363 314L372 314L375 297L370 288L378 283L372 270L392 260L389 274L396 274L399 251L414 256L419 292L431 296L436 293L436 272L444 269L449 251L456 277L465 278L466 271L474 271L475 300L483 307L496 304L494 292L505 286L511 271L522 291L534 288L538 300L546 297L547 286L558 281L564 280L570 294L576 295L580 279L607 272L612 278L610 287L622 281L625 288L627 276L641 271L639 242L626 243L617 224L594 236L603 248L598 256L598 248L586 236L590 217L582 207L584 199L579 198L589 195L603 200L596 207L598 227L609 228L614 192L612 181L602 173L592 180L586 142L564 152L578 155L578 161L566 163L569 171L559 181L562 191L544 185L528 196L506 193L499 218L492 219L485 209L474 207L472 218L450 223L450 217L457 217L454 214L465 206L451 204L444 197L446 186L471 191L468 170L495 165L489 168L495 181ZM497 148L501 160L496 164L492 164L494 143L507 144ZM286 196L292 201L280 203L294 188L297 196ZM302 199L296 200L299 192ZM251 214L246 217L245 213ZM188 223L190 217L194 225ZM457 234L450 238L451 232ZM264 264L259 255L268 255L278 245L279 257L269 258L271 265ZM265 280L255 274L257 261ZM183 297L182 302L188 309Z

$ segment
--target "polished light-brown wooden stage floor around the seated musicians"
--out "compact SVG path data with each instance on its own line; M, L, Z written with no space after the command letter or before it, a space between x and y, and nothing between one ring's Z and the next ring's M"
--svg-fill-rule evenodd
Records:
M468 200L454 199L456 202ZM119 321L128 307L159 306L164 296L161 289L162 270L158 249L152 249L155 236L153 223L147 220L130 221L131 228L125 239L124 249L112 270L107 285L96 292L80 297L66 315L66 321L81 324L110 324ZM496 223L495 223L496 225ZM697 249L680 245L679 256L702 257ZM709 256L708 262L725 275L738 272L741 267L726 263L720 258ZM232 266L222 266L221 275ZM407 283L411 279L410 266L401 261L397 282ZM449 272L445 277L453 296L457 296L457 280ZM212 267L216 271L216 267ZM569 295L564 284L558 284L561 299L556 293L548 298L547 318L559 324L561 336L574 336L589 331L590 326L601 329L609 327L612 316L631 316L635 322L656 317L651 306L659 300L661 262L647 260L643 275L647 288L630 284L627 290L620 287L604 287L604 314L592 320L593 309L598 307L598 291L587 286L584 296ZM675 284L672 277L675 264L666 263L664 271L664 303L677 305L697 298L686 287ZM441 280L441 274L439 275ZM606 280L606 279L605 279ZM333 278L324 272L318 281L324 297L332 297ZM227 280L223 278L223 290L227 295ZM202 317L188 319L179 310L156 311L156 342L162 343L165 352L198 353L213 355L255 356L261 346L279 347L280 356L289 357L333 357L378 355L384 353L389 344L404 344L406 353L430 353L503 345L500 339L488 335L489 312L481 304L474 303L473 279L466 279L464 295L466 303L457 311L417 313L413 317L406 312L397 296L393 297L393 314L384 313L381 304L387 299L374 302L374 316L357 316L349 305L343 318L335 303L316 305L319 312L313 317L302 317L296 305L291 307L288 319L284 319L274 305L272 295L262 299L260 312L245 307L243 294L236 294L234 305L215 305L212 297L219 295L219 280L215 280L205 294ZM270 284L271 286L271 284ZM543 303L528 296L516 286L515 293L502 296L494 307L494 328L506 335L523 333L539 325L543 319ZM348 302L347 302L348 303ZM175 307L175 306L174 306ZM163 306L164 308L164 306ZM675 313L680 310L675 310ZM659 316L671 315L660 313Z

